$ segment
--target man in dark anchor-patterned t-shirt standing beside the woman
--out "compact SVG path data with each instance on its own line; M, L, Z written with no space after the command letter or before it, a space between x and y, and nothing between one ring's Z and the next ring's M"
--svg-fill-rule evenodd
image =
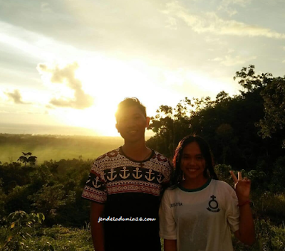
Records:
M82 195L92 201L95 251L160 251L158 208L170 162L145 146L150 118L138 99L120 102L115 117L125 143L95 160Z

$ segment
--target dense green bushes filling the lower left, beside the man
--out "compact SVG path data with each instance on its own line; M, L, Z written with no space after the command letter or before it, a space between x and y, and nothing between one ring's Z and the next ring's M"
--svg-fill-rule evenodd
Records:
M0 164L0 250L93 250L81 198L91 162Z

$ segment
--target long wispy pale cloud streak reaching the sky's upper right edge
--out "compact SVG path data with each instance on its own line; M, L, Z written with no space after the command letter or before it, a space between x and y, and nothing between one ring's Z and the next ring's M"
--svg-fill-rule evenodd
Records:
M242 23L235 20L219 18L214 12L206 12L205 16L190 14L184 6L177 1L172 1L166 5L163 11L167 18L177 18L190 26L197 33L214 33L218 35L232 36L265 36L267 38L285 38L285 33L271 31L269 28ZM174 23L175 22L171 22ZM170 23L168 23L168 26Z

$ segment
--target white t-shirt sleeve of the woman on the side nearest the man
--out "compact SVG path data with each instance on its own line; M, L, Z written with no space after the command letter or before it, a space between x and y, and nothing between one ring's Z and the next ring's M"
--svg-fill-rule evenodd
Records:
M177 239L177 226L170 208L169 190L165 191L160 203L160 237L167 240Z

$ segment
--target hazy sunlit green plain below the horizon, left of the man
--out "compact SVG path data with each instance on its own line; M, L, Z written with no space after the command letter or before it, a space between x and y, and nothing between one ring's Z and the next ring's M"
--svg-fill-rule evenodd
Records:
M79 156L81 159L95 159L122 144L120 137L0 134L0 161L17 161L22 151L36 155L37 164L51 159L78 159Z

